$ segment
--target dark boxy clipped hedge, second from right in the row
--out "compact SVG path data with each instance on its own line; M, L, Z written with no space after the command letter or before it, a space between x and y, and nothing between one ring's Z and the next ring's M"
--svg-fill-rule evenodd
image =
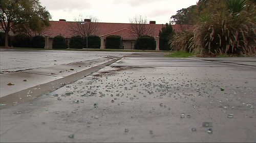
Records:
M106 37L106 49L121 49L121 37L120 36L108 36Z

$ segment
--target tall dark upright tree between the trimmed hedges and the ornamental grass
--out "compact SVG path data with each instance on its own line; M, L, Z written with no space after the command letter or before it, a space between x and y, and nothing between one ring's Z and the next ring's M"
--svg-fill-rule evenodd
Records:
M172 39L174 35L174 30L171 24L166 23L164 27L162 27L162 31L159 32L160 37L160 50L170 50L169 40Z

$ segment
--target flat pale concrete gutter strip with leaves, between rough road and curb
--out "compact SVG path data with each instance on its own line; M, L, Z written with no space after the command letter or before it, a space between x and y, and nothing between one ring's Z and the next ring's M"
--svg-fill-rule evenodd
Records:
M100 64L111 61L111 58L101 58L90 61L70 63L49 68L32 69L15 73L0 75L0 97L22 91L35 85L54 81L77 72L90 69ZM8 85L12 83L14 85Z

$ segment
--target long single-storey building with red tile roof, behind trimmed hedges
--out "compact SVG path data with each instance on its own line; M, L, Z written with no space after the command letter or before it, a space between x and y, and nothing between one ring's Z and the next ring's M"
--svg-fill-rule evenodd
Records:
M84 19L84 21L88 22L88 19ZM89 21L90 22L90 21ZM49 40L48 46L46 48L52 48L53 38L55 36L61 35L67 40L69 40L73 36L77 36L71 30L71 26L76 26L77 23L81 24L81 22L74 22L74 21L66 21L65 19L59 19L59 21L50 21L50 27L46 30L46 35L48 35ZM101 47L105 48L105 38L111 35L118 35L122 38L122 46L123 49L134 49L135 41L137 40L137 36L135 32L132 30L131 23L104 23L104 22L97 22L97 30L94 31L92 35L99 36L101 38ZM159 49L159 32L165 26L165 24L156 24L155 21L150 21L147 24L151 26L152 32L149 36L152 36L157 41L157 48ZM175 32L180 32L184 29L190 27L190 25L172 25ZM46 43L47 44L47 43Z

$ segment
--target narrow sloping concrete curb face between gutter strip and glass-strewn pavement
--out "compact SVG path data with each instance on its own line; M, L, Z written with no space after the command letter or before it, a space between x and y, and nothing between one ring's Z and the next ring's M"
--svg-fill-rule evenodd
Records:
M122 59L122 57L115 58L112 61L103 63L101 65L71 74L69 76L50 81L44 84L36 85L34 87L28 88L26 90L22 90L4 97L0 98L0 110L8 107L15 106L16 104L24 103L31 101L45 93L53 92L67 84L73 83L79 79L82 79L106 66L109 66L118 60Z

